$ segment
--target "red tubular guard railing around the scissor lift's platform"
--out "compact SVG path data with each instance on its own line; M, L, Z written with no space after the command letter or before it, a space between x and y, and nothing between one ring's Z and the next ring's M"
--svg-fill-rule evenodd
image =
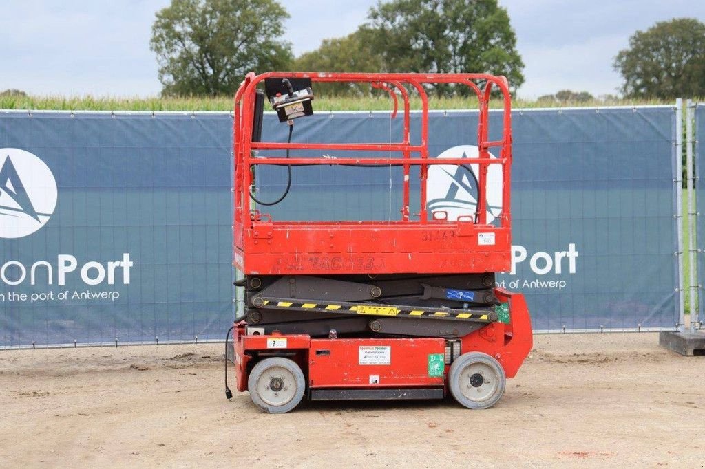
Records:
M369 82L373 87L384 89L393 96L394 110L392 117L398 111L398 101L394 89L398 89L404 100L404 137L402 142L395 143L367 143L367 144L321 144L321 143L274 143L251 142L252 118L255 107L255 89L265 78L310 78L313 82ZM483 82L484 89L476 82ZM456 83L470 87L479 101L479 120L477 128L477 158L429 158L428 153L428 96L424 85L435 83ZM421 108L421 142L412 145L410 142L410 98L404 85L416 89L422 101ZM489 99L493 87L499 90L503 97L503 132L502 138L489 141ZM511 115L510 92L505 77L496 77L479 73L300 73L300 72L270 72L262 75L248 73L243 84L235 94L235 110L233 114L233 157L235 158L235 174L233 187L235 188L235 223L242 223L245 228L252 227L250 217L250 185L252 184L251 168L253 165L401 165L404 171L404 198L401 208L402 220L408 223L428 223L427 216L427 175L429 165L460 165L477 164L478 174L478 201L477 223L486 224L486 184L489 165L502 166L502 214L501 225L509 227L510 218L510 163L511 163ZM490 158L489 148L501 147L499 158ZM402 154L402 158L274 158L252 157L252 150L341 150L341 151L395 151ZM417 158L412 158L417 154ZM411 222L409 213L410 194L410 166L419 165L420 170L420 211L419 221ZM247 216L243 216L247 214Z

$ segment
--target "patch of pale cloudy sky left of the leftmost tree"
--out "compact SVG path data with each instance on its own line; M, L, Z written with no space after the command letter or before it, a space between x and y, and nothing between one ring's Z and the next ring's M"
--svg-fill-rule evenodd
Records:
M157 94L149 50L154 13L168 0L9 1L3 6L0 89L37 94Z

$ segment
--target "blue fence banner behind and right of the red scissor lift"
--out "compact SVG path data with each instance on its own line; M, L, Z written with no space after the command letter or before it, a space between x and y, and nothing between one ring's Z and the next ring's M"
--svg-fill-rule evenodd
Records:
M501 137L501 121L501 112L490 113L491 140ZM413 115L412 130L419 122ZM515 110L512 127L513 268L498 283L526 294L534 329L673 329L673 106ZM477 113L431 113L431 156L474 156L476 129ZM286 132L270 119L263 135L281 142ZM388 113L323 113L297 120L293 138L398 142L402 132L403 123ZM418 135L412 133L412 143L419 143ZM474 213L472 189L462 187L470 180L456 170L429 169L429 208ZM260 200L276 200L286 189L286 168L262 168L257 177L264 186ZM395 166L295 168L286 199L262 210L275 220L312 214L317 220L398 220L402 178ZM417 179L412 171L411 180ZM501 178L491 169L488 181ZM412 213L419 209L418 189L412 186ZM489 215L501 206L493 193L497 187L489 188Z

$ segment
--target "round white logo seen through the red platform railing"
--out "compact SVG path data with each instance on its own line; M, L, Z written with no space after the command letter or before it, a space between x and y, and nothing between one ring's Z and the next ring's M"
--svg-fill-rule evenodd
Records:
M460 145L443 151L439 158L477 158L479 149L474 145ZM496 156L490 154L491 158ZM467 168L472 169L472 174ZM427 181L427 208L445 211L448 220L458 216L472 217L477 211L477 177L479 164L431 165ZM502 211L502 165L489 165L487 169L487 223Z

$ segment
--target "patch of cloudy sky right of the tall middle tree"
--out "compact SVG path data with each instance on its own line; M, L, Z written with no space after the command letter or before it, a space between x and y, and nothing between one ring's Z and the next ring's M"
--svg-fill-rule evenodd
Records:
M637 30L674 17L705 21L705 2L692 0L500 0L526 65L519 94L560 89L616 94L622 80L614 57Z

